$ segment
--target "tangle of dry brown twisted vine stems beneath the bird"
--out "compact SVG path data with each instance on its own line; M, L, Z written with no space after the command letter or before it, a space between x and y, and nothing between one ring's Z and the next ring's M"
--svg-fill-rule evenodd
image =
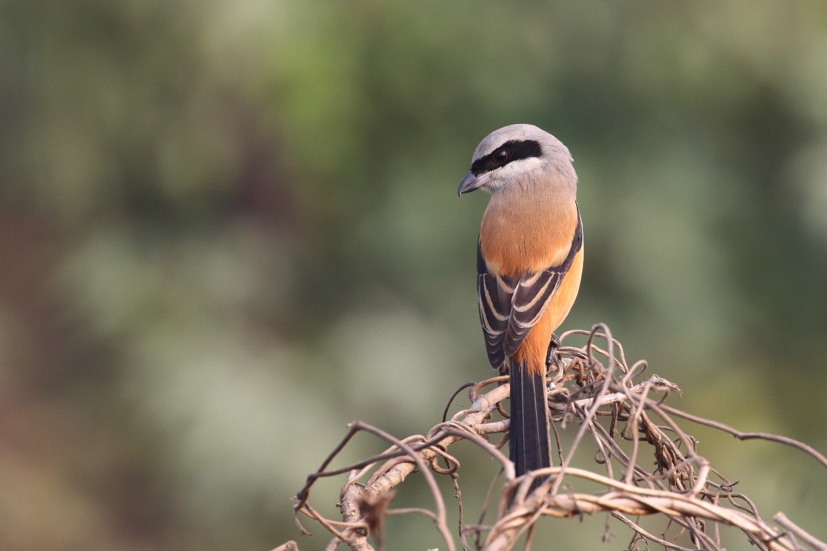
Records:
M623 347L613 340L609 328L597 325L591 331L570 331L562 336L563 344L572 335L587 335L581 347L561 346L559 361L548 373L548 407L554 434L569 425L579 425L567 450L557 447L560 465L514 476L514 466L500 451L505 439L492 444L495 435L508 430L502 402L509 395L508 378L495 377L471 387L471 406L459 411L451 420L436 425L427 435L396 439L383 430L364 423L353 423L342 442L333 449L317 472L308 476L298 493L295 519L304 529L300 515L317 521L333 538L327 549L347 545L354 551L384 549L383 525L389 515L427 515L445 543L454 551L457 542L447 521L447 506L437 477L449 477L457 497L461 549L500 551L512 549L523 534L525 547L531 544L534 526L544 517L575 518L604 512L632 530L628 549L657 544L665 549L724 549L719 527L732 526L762 551L827 550L827 544L815 539L782 513L773 520L762 520L747 496L734 492L733 484L696 453L696 440L677 424L676 418L723 430L739 439L761 438L795 446L827 467L827 458L792 439L762 433L742 433L716 421L691 416L666 406L672 392L680 392L672 382L654 375L641 379L646 363L631 367L624 358ZM595 344L604 341L605 348ZM493 420L497 417L505 419ZM657 423L653 420L657 419ZM384 440L389 448L383 454L328 470L333 458L359 432ZM457 479L459 460L449 453L452 444L469 440L501 465L500 477L491 483L485 502L480 504L480 521L466 524L464 506ZM593 468L571 466L576 451L595 449ZM640 458L645 456L646 460ZM654 456L653 466L651 459ZM444 463L444 464L443 464ZM390 509L395 488L409 474L417 471L433 496L429 508ZM341 520L322 515L309 501L310 490L319 478L347 473L340 494ZM534 477L547 476L543 485L528 492ZM599 485L599 492L577 492L578 482ZM565 484L565 486L564 486ZM561 490L561 488L563 488ZM496 499L494 518L485 516ZM663 520L658 534L639 524L641 517L655 515ZM371 543L371 539L372 542ZM288 542L279 549L298 549ZM691 546L691 547L689 547Z

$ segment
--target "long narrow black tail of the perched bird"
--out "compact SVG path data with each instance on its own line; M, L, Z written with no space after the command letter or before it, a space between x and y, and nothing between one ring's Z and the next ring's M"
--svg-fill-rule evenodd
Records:
M551 467L552 444L548 434L545 378L527 373L525 366L514 359L510 363L509 458L519 477L528 471ZM543 478L536 479L531 489L542 482Z

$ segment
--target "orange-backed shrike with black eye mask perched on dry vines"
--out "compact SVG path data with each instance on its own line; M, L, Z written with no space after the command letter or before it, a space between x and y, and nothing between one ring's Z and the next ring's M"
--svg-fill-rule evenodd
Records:
M519 477L552 464L545 377L583 271L577 174L556 137L510 125L480 142L457 194L476 189L491 195L477 241L480 325L491 367L509 373L509 459Z

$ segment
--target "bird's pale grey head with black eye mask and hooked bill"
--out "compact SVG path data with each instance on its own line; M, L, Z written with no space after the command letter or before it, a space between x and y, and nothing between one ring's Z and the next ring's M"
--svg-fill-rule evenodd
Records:
M476 146L471 171L462 178L457 193L484 189L495 193L510 182L541 171L576 186L571 154L560 140L533 125L503 126Z

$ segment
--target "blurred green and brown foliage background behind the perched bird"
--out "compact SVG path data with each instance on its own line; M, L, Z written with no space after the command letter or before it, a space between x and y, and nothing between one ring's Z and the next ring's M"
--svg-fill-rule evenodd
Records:
M606 322L672 405L827 450L820 0L6 0L0 121L2 549L323 549L290 496L347 421L422 433L492 374L486 197L456 189L514 122L580 175L563 329ZM814 460L687 430L827 538ZM392 549L441 545L395 522ZM623 549L602 523L549 526Z

